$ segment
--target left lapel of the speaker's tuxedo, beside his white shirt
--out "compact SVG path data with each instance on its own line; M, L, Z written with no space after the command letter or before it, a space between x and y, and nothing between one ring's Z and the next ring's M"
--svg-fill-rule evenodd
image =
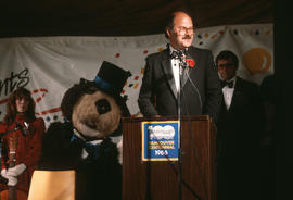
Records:
M170 58L168 57L168 53L169 53L168 50L164 52L161 65L163 67L163 72L165 73L165 75L167 77L167 82L170 86L174 98L177 99L177 89L176 89L176 85L175 85Z

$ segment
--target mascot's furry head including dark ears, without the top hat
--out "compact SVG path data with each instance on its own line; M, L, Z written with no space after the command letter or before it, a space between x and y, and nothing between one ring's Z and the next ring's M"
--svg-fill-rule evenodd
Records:
M65 92L61 109L86 140L104 139L119 128L122 116L130 115L123 99L87 82Z

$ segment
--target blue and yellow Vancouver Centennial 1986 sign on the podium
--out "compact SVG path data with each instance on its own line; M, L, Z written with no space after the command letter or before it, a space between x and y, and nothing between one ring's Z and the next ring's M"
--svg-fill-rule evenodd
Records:
M178 161L179 121L142 122L142 161Z

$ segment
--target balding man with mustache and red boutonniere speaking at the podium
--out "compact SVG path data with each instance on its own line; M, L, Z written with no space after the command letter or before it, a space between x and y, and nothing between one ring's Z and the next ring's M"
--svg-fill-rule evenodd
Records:
M174 12L167 21L167 49L150 54L139 93L141 113L149 116L207 114L214 122L220 108L220 85L211 51L192 47L191 15Z

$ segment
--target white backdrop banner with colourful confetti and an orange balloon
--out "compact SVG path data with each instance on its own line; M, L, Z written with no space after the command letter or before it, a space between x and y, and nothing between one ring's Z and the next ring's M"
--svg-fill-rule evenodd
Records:
M240 60L239 76L260 84L273 73L272 24L230 25L196 30L193 45L233 51ZM132 74L124 87L131 114L139 112L137 98L145 57L163 50L164 34L138 37L34 37L0 39L0 120L5 102L17 86L25 86L37 102L37 115L49 125L62 121L63 93L79 79L94 79L103 61ZM196 61L195 61L196 63ZM196 65L195 65L196 67Z

